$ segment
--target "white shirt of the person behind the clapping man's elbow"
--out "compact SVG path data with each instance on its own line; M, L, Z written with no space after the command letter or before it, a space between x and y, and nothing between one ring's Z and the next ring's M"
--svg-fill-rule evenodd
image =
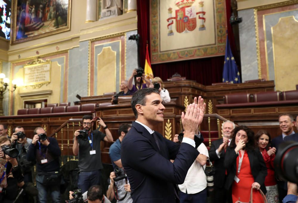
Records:
M204 143L200 144L197 148L200 154L206 155L209 158L207 147ZM207 187L207 177L204 172L206 164L202 166L198 161L194 161L193 165L187 171L186 178L182 185L178 185L180 191L187 194L195 194L201 192Z

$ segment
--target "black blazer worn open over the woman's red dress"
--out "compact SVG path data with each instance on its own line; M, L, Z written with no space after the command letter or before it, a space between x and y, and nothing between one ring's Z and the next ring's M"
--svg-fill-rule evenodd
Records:
M254 177L254 182L259 183L261 185L261 190L264 194L266 194L267 191L264 182L267 175L267 167L264 162L263 156L258 148L247 151L247 154L249 158L250 169L252 170L252 176ZM226 178L225 183L226 190L229 190L229 188L232 186L236 171L238 170L236 169L237 157L238 154L236 154L235 152L235 147L228 147L226 149L226 155L224 158L224 167L228 172L228 177Z

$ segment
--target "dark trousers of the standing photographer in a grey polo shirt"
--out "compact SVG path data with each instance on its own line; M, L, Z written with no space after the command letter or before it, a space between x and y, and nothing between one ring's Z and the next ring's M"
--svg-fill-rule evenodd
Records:
M82 193L88 191L93 185L100 185L101 172L96 171L80 171L77 180L77 187L81 189Z

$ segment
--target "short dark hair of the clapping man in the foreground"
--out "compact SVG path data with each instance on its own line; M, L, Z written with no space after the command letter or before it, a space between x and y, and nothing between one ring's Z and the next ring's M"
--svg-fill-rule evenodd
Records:
M140 104L142 106L145 106L146 104L146 96L150 95L152 93L159 94L159 91L154 88L144 88L136 91L134 95L131 97L131 108L132 111L134 111L134 116L136 119L138 118L138 111L136 110L136 105Z

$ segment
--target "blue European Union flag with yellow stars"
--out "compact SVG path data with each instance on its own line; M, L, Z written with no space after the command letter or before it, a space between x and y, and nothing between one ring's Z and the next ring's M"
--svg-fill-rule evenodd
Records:
M223 82L241 83L240 73L231 51L228 36L226 36L226 54L224 60Z

